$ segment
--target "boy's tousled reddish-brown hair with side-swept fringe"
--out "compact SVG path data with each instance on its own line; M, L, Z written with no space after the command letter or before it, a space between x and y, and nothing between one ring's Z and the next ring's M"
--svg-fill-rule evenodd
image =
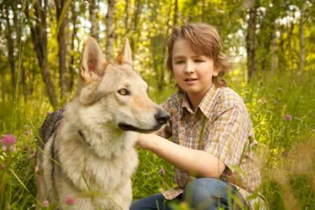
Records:
M181 27L174 27L172 34L167 40L169 55L167 57L167 69L173 73L173 47L175 41L184 38L190 43L190 48L197 54L206 55L214 60L214 66L218 69L218 76L212 78L212 82L217 87L226 87L227 83L222 78L225 73L232 69L232 63L228 56L221 52L221 38L218 31L207 23L188 23Z

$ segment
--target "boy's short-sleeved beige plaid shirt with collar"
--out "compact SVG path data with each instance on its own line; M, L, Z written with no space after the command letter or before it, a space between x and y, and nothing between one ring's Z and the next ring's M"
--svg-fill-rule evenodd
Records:
M237 186L246 199L260 186L260 167L255 161L258 143L243 99L228 87L212 85L194 112L185 93L173 94L162 107L169 112L169 123L156 132L160 137L173 137L176 144L203 150L225 163L221 180ZM175 167L178 186L163 192L167 200L181 193L195 179ZM249 193L251 192L251 193ZM260 197L248 200L248 205L264 202Z

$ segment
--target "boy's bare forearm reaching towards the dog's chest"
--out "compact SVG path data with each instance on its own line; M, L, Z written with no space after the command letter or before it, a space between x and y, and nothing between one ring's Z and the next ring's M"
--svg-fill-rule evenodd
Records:
M138 145L192 176L219 179L225 169L225 164L214 155L174 144L155 134L140 134Z

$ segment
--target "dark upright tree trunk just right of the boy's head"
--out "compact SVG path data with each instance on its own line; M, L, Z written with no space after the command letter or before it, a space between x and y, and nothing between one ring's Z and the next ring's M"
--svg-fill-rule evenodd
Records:
M250 80L256 71L255 63L255 31L256 31L256 7L255 0L251 0L251 7L249 9L248 28L246 35L246 51L247 51L247 75Z

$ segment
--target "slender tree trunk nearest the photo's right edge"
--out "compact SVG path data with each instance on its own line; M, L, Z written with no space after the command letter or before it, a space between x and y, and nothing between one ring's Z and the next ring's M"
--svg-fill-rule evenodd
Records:
M299 70L298 73L302 73L304 68L305 62L305 43L304 43L304 26L303 26L303 15L305 10L305 3L302 3L300 6L300 29L299 29L299 36L300 36L300 62L299 62Z

